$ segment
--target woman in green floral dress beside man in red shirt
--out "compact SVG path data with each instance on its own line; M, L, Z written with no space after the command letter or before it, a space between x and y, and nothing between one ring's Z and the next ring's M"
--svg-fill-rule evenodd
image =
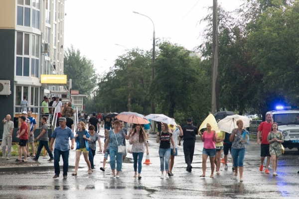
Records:
M278 124L273 122L271 132L268 134L268 142L270 143L270 155L272 159L273 176L278 176L276 173L278 157L282 155L281 144L284 142L282 132L278 130Z

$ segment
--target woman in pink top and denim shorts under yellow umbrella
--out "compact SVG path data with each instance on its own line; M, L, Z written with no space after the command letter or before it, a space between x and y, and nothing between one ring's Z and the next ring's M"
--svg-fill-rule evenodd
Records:
M216 156L216 141L217 141L217 134L209 123L206 124L207 130L203 132L203 135L200 131L198 134L200 136L201 141L203 142L203 150L202 150L202 175L200 177L205 177L205 171L207 168L207 159L210 156L210 163L211 163L211 175L210 178L214 178L214 160Z

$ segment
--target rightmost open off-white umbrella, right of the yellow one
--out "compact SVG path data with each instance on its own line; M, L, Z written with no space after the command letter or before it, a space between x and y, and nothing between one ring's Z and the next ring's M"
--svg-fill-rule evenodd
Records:
M241 115L228 115L224 119L221 119L218 122L218 129L223 130L225 132L231 133L234 128L238 128L237 121L238 120L243 121L243 127L247 128L250 125L250 119L245 116Z

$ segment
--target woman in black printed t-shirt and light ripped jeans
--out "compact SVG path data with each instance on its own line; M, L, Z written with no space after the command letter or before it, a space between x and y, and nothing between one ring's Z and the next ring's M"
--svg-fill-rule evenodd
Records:
M160 156L160 169L161 169L161 176L160 179L164 178L164 163L165 163L165 179L168 180L168 167L169 167L169 157L170 157L170 141L172 146L174 145L173 136L170 130L168 129L168 125L163 123L161 125L161 132L157 132L156 143L160 142L159 147L159 156ZM173 148L173 153L175 154L175 148Z

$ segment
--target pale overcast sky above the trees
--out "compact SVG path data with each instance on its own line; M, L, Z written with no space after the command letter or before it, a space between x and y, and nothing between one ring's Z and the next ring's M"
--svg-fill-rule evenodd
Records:
M241 0L218 0L226 10L240 6ZM128 49L152 48L155 38L192 50L201 42L203 25L198 22L207 14L213 0L66 0L64 49L71 44L92 60L97 73L114 65L118 56Z

